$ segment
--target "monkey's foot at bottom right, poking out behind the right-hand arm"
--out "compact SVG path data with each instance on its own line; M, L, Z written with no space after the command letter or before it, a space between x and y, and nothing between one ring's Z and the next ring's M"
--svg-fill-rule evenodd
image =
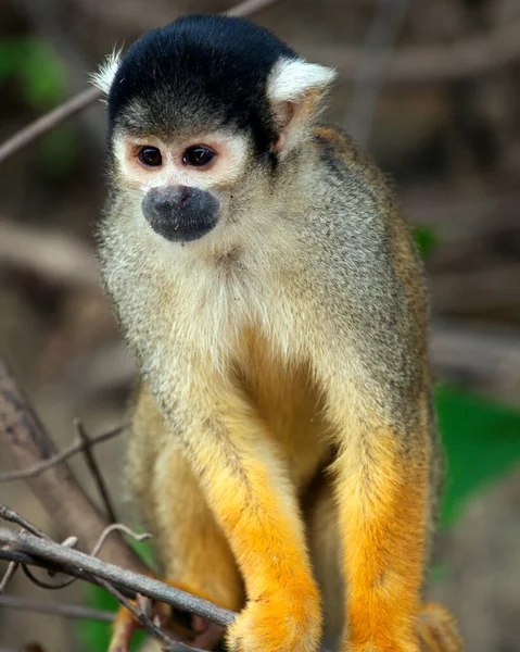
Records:
M464 648L455 618L436 602L422 606L417 629L422 652L460 652Z

